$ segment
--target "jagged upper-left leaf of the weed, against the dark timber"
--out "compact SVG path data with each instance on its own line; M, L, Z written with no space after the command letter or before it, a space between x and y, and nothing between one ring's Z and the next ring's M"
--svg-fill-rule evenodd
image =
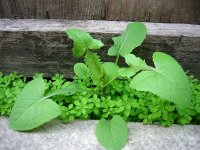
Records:
M93 39L92 36L80 29L65 30L69 38L74 41L74 57L83 56L89 49L100 49L104 44L100 40Z

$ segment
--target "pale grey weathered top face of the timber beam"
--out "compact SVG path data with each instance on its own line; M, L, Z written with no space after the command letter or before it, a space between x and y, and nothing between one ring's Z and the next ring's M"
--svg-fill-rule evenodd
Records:
M64 19L0 19L0 31L63 32L79 28L92 33L115 33L125 30L126 21L64 20ZM146 23L149 35L200 37L200 25L177 23Z

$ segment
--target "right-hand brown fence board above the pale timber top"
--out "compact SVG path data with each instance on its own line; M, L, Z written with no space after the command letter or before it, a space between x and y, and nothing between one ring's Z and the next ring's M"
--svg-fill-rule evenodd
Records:
M199 0L108 0L107 20L200 24Z

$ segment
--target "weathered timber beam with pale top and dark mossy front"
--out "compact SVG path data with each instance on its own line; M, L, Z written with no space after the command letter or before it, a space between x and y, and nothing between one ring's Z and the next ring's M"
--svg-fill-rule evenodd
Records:
M181 63L184 70L200 79L200 25L145 23L148 37L136 53L151 62L154 51L163 51ZM112 36L125 30L127 22L121 21L68 21L68 20L1 20L0 21L0 71L18 71L25 76L43 72L73 76L76 60L71 53L72 42L65 29L81 28L98 39L105 47L99 51L104 60ZM122 60L120 61L120 63Z

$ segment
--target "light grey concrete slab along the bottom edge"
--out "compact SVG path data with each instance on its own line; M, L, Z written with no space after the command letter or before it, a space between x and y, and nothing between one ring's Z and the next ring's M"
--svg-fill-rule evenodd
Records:
M97 121L58 120L31 132L15 132L8 119L0 118L0 150L103 150L95 137ZM129 123L129 141L124 150L199 150L200 126Z

